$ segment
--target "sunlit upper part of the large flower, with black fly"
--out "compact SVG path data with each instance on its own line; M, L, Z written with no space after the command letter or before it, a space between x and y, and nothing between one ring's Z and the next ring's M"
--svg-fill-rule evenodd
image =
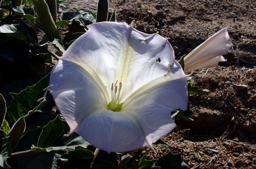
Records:
M155 85L186 76L174 60L170 43L158 34L145 34L117 22L93 23L88 28L61 59L88 71L108 103L111 84L117 80L123 86L120 102L128 102Z

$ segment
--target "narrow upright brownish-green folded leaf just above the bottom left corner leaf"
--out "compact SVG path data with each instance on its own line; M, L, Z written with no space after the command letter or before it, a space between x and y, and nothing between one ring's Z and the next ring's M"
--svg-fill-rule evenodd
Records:
M24 131L26 128L26 123L25 123L25 117L19 118L14 125L12 126L10 132L8 133L8 136L13 136L11 144L12 144L12 150L16 148L18 145Z

